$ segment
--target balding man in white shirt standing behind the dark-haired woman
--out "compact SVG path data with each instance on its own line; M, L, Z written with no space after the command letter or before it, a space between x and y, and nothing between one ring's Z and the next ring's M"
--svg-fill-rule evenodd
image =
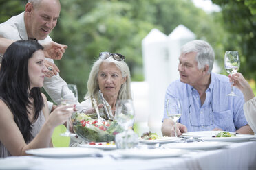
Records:
M29 0L25 5L25 12L13 16L0 24L0 37L10 40L38 40L42 45L50 44L49 34L56 26L61 4L58 0ZM61 47L65 52L66 45ZM61 104L61 87L66 82L58 75L58 68L54 61L45 58L49 71L46 73L43 88L56 104ZM55 75L54 75L55 74ZM54 75L54 76L52 76ZM67 95L68 95L67 91Z

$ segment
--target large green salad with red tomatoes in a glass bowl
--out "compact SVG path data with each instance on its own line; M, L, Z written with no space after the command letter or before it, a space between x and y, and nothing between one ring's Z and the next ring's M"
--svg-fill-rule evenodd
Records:
M123 131L117 121L105 120L99 123L84 113L73 114L72 122L74 132L87 142L114 141L115 135Z

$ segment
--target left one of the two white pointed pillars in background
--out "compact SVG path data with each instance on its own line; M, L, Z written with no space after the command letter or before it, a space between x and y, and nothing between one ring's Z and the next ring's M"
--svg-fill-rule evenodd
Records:
M145 81L149 84L149 129L161 133L164 93L169 83L167 80L167 36L158 29L142 40L142 56Z

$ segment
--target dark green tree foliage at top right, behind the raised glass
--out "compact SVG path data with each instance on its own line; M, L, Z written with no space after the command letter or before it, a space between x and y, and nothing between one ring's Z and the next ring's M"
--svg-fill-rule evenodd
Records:
M223 27L230 34L224 38L224 48L239 51L241 66L239 71L247 78L256 79L256 18L253 0L213 0L222 8Z

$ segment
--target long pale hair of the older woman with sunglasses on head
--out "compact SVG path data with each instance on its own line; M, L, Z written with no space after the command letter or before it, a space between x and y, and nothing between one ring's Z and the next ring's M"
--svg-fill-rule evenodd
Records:
M125 63L124 60L117 61L114 60L114 58L109 57L105 60L98 59L96 62L94 62L94 65L92 66L92 70L89 73L89 79L87 82L87 94L85 95L85 99L88 99L89 97L95 97L98 94L98 90L100 90L98 86L98 72L100 69L100 64L103 62L107 63L114 63L118 69L120 69L122 73L122 77L126 77L126 81L124 84L122 84L117 99L131 99L131 75L129 71L128 65Z

